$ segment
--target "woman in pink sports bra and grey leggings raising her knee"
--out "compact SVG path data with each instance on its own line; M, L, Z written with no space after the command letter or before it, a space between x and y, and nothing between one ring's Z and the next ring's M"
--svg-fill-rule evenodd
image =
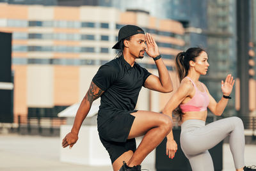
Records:
M181 124L180 146L189 159L193 171L214 170L208 149L230 136L230 149L236 170L256 170L244 167L244 127L239 117L228 117L205 126L207 107L215 115L221 115L227 106L234 85L231 74L221 80L223 97L216 103L207 87L198 79L206 75L208 57L202 48L189 48L175 57L180 85L164 107L163 113L172 117L179 114ZM174 111L175 110L175 111ZM177 144L172 131L167 136L166 154L174 157Z

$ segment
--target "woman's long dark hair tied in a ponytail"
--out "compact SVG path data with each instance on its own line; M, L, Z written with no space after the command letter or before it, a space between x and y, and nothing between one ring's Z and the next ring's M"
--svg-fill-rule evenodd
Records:
M201 52L205 52L205 50L200 47L191 47L188 48L186 52L180 52L177 54L175 57L175 68L180 82L188 75L188 70L190 67L189 61L195 62L196 57L200 56ZM173 110L173 114L178 115L179 119L181 120L183 112L180 110L180 107L177 107L175 110Z

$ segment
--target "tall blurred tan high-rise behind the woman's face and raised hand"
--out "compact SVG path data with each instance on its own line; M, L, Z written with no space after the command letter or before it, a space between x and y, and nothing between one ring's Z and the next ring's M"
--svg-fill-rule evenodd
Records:
M225 80L228 73L237 78L236 1L207 1L207 30L204 34L207 36L210 67L203 81L218 101L223 95L220 81ZM228 101L225 116L236 115L235 90L230 95L233 98Z

